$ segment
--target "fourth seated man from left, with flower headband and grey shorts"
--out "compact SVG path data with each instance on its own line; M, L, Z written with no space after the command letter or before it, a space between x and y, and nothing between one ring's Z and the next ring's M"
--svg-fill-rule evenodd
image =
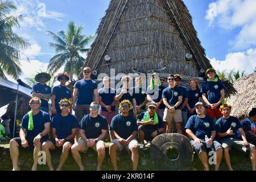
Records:
M137 123L134 117L129 115L132 108L129 100L123 100L119 104L121 114L115 115L110 125L110 132L114 136L109 146L109 155L115 171L117 171L117 152L125 148L131 152L131 161L133 162L133 171L137 169L139 162L139 150L137 136Z

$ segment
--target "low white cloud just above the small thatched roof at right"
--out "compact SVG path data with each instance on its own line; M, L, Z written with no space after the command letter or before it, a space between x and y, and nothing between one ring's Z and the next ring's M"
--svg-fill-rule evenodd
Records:
M210 64L213 68L219 71L230 71L234 69L235 71L245 71L245 73L250 74L254 72L256 67L256 48L248 49L244 52L231 52L225 56L225 60L217 60L215 57L210 59Z

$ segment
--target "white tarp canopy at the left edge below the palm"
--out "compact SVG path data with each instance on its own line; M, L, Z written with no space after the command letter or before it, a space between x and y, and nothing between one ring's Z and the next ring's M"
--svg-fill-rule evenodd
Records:
M18 84L0 77L0 107L9 104L16 99ZM31 98L31 89L19 85L19 96Z

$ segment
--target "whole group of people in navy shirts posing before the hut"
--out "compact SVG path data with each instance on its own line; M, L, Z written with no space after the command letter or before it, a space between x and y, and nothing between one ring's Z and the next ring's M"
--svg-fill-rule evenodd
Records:
M14 170L19 169L21 146L34 147L32 170L36 170L40 150L46 152L46 163L53 170L50 150L57 147L63 148L57 170L63 167L69 151L80 170L84 170L80 152L86 152L88 148L97 152L97 170L100 170L105 158L104 139L108 135L113 169L118 169L117 154L125 148L131 153L132 168L136 170L139 148L146 148L160 134L174 132L191 139L205 170L209 169L206 153L209 151L208 144L217 153L216 170L220 166L222 151L226 164L232 170L229 157L232 147L250 151L252 169L255 170L255 146L246 140L255 142L255 109L242 123L230 116L231 106L222 105L224 85L218 80L213 68L206 71L208 80L203 83L201 90L197 80L191 78L191 89L188 91L181 86L180 75L169 75L168 86L165 87L165 78L153 73L147 88L142 86L143 77L136 77L136 85L130 88L132 79L124 76L121 78L122 88L115 90L110 87L109 77L102 78L104 86L98 89L97 83L90 79L91 69L86 67L83 73L84 78L73 85L73 93L66 86L69 80L67 73L57 75L60 85L55 86L52 92L46 85L51 76L47 73L36 75L38 84L32 88L31 111L22 119L19 138L10 141ZM48 114L49 99L52 100L52 118ZM115 106L118 106L119 114L116 114ZM72 115L72 109L75 115ZM209 140L205 141L205 135Z

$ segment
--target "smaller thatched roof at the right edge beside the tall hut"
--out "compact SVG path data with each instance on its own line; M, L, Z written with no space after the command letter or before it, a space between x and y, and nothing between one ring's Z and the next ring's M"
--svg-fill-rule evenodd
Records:
M232 114L239 119L246 118L249 111L256 107L256 73L239 78L234 82L237 94L228 98Z

